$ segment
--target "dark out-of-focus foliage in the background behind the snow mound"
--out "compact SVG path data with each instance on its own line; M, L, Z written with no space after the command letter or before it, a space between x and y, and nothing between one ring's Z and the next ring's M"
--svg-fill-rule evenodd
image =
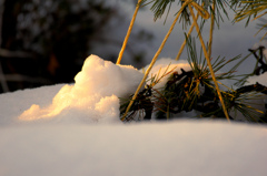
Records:
M0 0L0 93L72 82L96 42L121 46L122 40L108 37L129 20L118 6L101 0ZM128 3L135 8L132 1ZM121 21L120 25L111 25L115 19ZM139 30L134 39L148 41L152 35ZM142 61L144 52L128 50L131 60ZM116 54L110 53L107 60L116 61Z

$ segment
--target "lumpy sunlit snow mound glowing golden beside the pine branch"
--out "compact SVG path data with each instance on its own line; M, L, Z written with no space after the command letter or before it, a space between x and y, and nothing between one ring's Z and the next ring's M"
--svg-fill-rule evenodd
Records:
M73 85L66 84L46 107L33 104L19 120L119 121L119 97L135 92L144 74L132 66L116 65L90 55ZM72 114L72 115L70 115Z

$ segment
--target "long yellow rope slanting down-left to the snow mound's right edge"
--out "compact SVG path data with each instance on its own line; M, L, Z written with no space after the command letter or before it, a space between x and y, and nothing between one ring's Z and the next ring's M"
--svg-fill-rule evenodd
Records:
M160 52L162 51L162 49L164 49L164 46L165 46L165 43L166 43L167 39L169 38L171 31L174 30L175 24L176 24L176 22L178 21L179 17L180 17L180 14L181 14L181 12L182 12L182 10L184 10L184 9L186 8L186 6L188 6L191 1L192 1L192 0L187 0L185 3L182 3L181 9L180 9L179 12L177 13L176 19L174 20L174 22L172 22L172 24L171 24L168 33L166 34L166 37L165 37L161 45L159 46L159 49L158 49L158 51L156 52L156 54L155 54L151 63L149 64L146 73L145 73L145 75L144 75L144 77L142 77L142 81L140 82L139 86L137 87L136 93L135 93L134 96L132 96L132 100L130 101L129 105L127 106L126 112L125 112L123 116L121 117L121 121L125 121L125 118L126 118L126 116L127 116L127 113L129 112L132 103L135 102L135 100L136 100L136 97L137 97L140 89L144 86L144 84L145 84L145 82L146 82L146 80L147 80L147 76L148 76L150 70L152 69L155 62L157 61L158 55L159 55Z

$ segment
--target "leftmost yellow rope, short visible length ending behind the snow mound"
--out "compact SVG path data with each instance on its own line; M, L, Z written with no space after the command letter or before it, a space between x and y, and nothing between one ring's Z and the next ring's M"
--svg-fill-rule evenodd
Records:
M134 15L132 15L132 18L131 18L131 22L130 22L129 29L128 29L128 31L127 31L127 34L126 34L123 44L122 44L122 46L121 46L121 49L120 49L120 53L119 53L119 56L118 56L118 59L117 59L116 64L120 64L120 61L121 61L121 59L122 59L122 55L123 55L123 52L125 52L125 49L126 49L126 44L127 44L127 42L128 42L128 40L129 40L129 37L130 37L130 33L131 33L134 23L135 23L135 21L136 21L137 12L138 12L138 10L139 10L139 7L140 7L141 1L142 1L142 0L138 0L138 2L137 2L135 13L134 13Z

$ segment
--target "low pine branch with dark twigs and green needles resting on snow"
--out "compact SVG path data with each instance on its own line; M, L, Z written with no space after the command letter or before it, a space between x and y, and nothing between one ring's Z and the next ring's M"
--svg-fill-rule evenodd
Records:
M189 54L188 62L190 63L191 71L184 71L181 69L180 74L175 71L169 71L161 77L155 75L151 83L138 94L126 121L150 120L151 111L157 114L157 120L179 117L179 115L176 114L191 111L199 112L200 115L198 117L225 117L209 69L206 61L196 54L197 51L194 40L188 40L187 49ZM227 64L236 60L244 61L239 55L229 61L217 58L212 64L215 72L220 72L221 68L227 66ZM239 64L239 62L237 64ZM266 63L264 64L265 66L267 65ZM226 73L216 74L216 80L218 82L226 80L236 80L238 82L239 80L237 77L240 75L234 74L235 68L236 65ZM159 83L164 76L168 77L166 85L160 89L155 89L154 86ZM226 102L227 111L234 112L230 120L237 120L235 114L239 112L246 117L243 121L265 122L263 120L265 113L253 107L250 101L263 99L263 94L267 94L266 86L257 83L246 86L243 85L234 90L233 87L227 87L222 83L220 83L220 85L226 90L221 91L221 94ZM125 113L125 107L129 104L129 101L130 100L122 101L121 115Z

